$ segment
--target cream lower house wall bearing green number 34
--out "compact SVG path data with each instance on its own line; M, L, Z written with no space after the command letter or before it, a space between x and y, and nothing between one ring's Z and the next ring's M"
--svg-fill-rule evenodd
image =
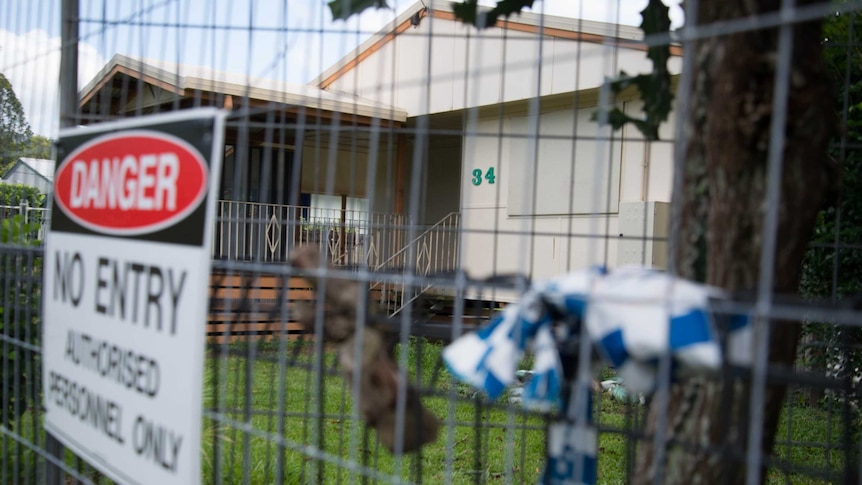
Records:
M641 106L620 103L632 115ZM615 266L620 202L670 201L672 144L647 145L632 127L599 129L590 121L594 110L484 118L467 128L461 263L471 276L542 279L595 264ZM673 119L662 127L663 140L672 126ZM495 183L474 184L473 171L491 166Z

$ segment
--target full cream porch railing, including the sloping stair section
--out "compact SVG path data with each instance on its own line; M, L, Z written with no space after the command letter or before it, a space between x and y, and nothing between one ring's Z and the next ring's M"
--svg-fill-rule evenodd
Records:
M284 263L293 248L314 244L335 266L390 272L410 267L427 276L456 268L459 227L457 212L417 225L404 214L219 200L212 257Z

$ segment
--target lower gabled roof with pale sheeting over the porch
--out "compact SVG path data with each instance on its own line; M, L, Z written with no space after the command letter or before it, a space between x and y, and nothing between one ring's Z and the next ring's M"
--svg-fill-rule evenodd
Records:
M97 98L117 75L127 75L173 93L192 97L195 92L235 96L310 109L403 122L407 113L393 106L355 96L330 93L309 85L249 77L200 66L116 54L79 93L80 105Z

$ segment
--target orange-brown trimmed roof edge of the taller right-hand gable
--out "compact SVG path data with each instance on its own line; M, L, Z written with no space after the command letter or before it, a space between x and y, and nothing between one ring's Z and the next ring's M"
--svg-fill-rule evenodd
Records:
M341 58L341 60L323 71L309 82L309 85L326 89L339 77L356 67L363 59L379 50L388 42L391 42L409 27L418 25L425 17L460 22L455 17L451 1L420 0L365 40L356 49ZM644 38L643 31L637 27L570 17L521 12L509 16L508 19L499 19L497 24L490 27L490 29L508 29L546 37L557 37L596 44L613 44L621 48L646 50L646 45L642 42ZM681 48L678 45L671 45L671 55L682 55Z

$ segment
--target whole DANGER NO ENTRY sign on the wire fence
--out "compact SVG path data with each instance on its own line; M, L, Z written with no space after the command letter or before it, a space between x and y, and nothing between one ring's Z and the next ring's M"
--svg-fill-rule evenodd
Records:
M224 115L60 132L45 246L45 428L121 483L200 482Z

